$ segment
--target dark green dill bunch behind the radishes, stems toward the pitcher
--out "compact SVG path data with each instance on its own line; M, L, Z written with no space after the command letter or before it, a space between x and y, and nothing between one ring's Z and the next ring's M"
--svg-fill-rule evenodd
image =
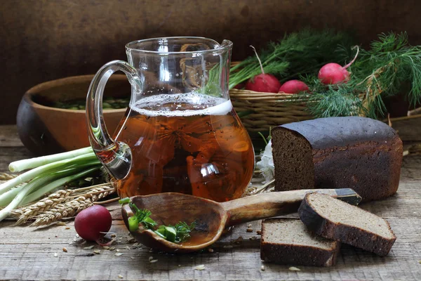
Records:
M282 82L299 74L312 73L325 63L342 63L348 55L338 52L338 46L351 46L353 43L354 39L345 32L307 28L270 42L259 52L259 57L265 73L275 75ZM251 55L230 69L229 89L260 73L258 58Z

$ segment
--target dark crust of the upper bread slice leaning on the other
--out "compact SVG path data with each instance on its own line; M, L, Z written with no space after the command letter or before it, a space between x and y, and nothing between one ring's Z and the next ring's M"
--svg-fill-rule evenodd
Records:
M311 196L311 193L305 196L298 209L300 220L307 228L322 237L350 244L354 247L371 251L379 256L387 256L387 254L389 254L389 251L392 249L396 240L396 235L394 235L392 228L390 228L387 221L387 226L394 235L392 239L370 233L368 230L330 221L328 218L317 213L314 207L312 207L311 202L309 202L309 196ZM347 203L343 202L343 204ZM364 210L361 209L361 211ZM364 212L368 213L368 211Z

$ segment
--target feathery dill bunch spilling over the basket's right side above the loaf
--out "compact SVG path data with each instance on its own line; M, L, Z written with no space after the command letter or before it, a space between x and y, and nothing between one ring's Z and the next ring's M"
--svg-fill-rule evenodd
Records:
M338 48L346 53L348 46ZM348 69L350 79L344 84L323 85L316 74L301 77L312 89L308 110L314 117L385 116L384 99L410 84L407 98L415 105L421 100L421 47L410 46L406 32L380 34L370 50L360 55Z

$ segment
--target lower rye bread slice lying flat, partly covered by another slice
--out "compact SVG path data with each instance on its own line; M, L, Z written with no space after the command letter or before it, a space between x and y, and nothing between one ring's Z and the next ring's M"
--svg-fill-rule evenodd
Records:
M262 221L260 257L263 261L301 266L333 266L340 242L310 232L298 219Z

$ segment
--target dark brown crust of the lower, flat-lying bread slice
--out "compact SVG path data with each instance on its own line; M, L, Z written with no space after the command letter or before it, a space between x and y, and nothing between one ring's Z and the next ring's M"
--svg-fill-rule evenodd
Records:
M265 241L265 222L279 220L269 218L262 221L262 239L260 240L260 258L263 261L300 265L300 266L333 266L340 251L340 242L333 242L330 249L321 249L307 245L271 243Z

